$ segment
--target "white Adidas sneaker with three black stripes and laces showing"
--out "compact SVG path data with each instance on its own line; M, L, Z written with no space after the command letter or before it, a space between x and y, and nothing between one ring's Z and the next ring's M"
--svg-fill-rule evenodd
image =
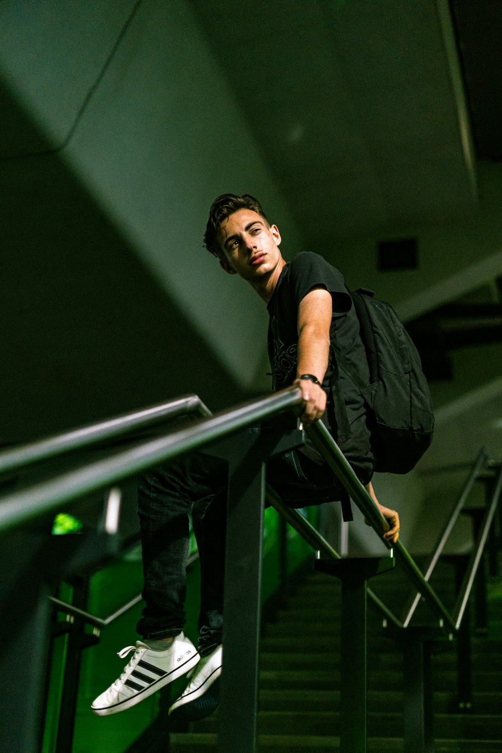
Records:
M121 659L134 651L118 680L93 701L91 709L99 716L116 714L135 706L152 693L160 691L199 661L199 652L183 633L175 636L166 651L153 651L138 641L118 652Z

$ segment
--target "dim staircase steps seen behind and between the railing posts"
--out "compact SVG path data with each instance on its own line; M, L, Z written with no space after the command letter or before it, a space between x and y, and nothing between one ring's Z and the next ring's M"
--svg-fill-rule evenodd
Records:
M406 582L399 572L372 581L392 606L402 602ZM446 605L453 578L443 567L434 582ZM340 584L313 572L284 600L275 619L263 624L260 654L258 751L324 753L339 750ZM447 598L450 594L449 599ZM491 604L502 605L501 602ZM490 614L500 620L502 609ZM396 608L397 614L400 611ZM382 630L382 618L368 614L368 743L371 751L403 753L403 672L397 643ZM455 644L444 642L433 657L436 751L502 751L502 641L473 637L473 709L456 711ZM172 733L169 753L217 750L218 712ZM236 745L236 753L239 748ZM357 753L357 751L354 751Z

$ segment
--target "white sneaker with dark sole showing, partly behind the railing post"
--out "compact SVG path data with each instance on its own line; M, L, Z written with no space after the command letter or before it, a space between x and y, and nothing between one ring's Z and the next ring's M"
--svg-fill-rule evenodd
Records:
M223 647L220 645L200 661L187 675L190 682L169 709L171 721L185 722L204 719L220 703L220 675Z

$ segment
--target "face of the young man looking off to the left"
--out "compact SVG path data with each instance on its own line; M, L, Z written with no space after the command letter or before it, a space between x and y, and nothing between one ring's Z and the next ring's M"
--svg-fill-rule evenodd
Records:
M281 236L275 225L251 209L238 209L221 223L217 236L224 258L220 264L230 274L258 281L272 273L281 262Z

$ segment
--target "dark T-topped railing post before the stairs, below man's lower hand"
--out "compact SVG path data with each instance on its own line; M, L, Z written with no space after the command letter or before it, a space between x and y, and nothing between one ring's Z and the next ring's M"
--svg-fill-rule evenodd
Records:
M367 584L394 564L391 556L315 563L342 581L340 753L367 751Z

